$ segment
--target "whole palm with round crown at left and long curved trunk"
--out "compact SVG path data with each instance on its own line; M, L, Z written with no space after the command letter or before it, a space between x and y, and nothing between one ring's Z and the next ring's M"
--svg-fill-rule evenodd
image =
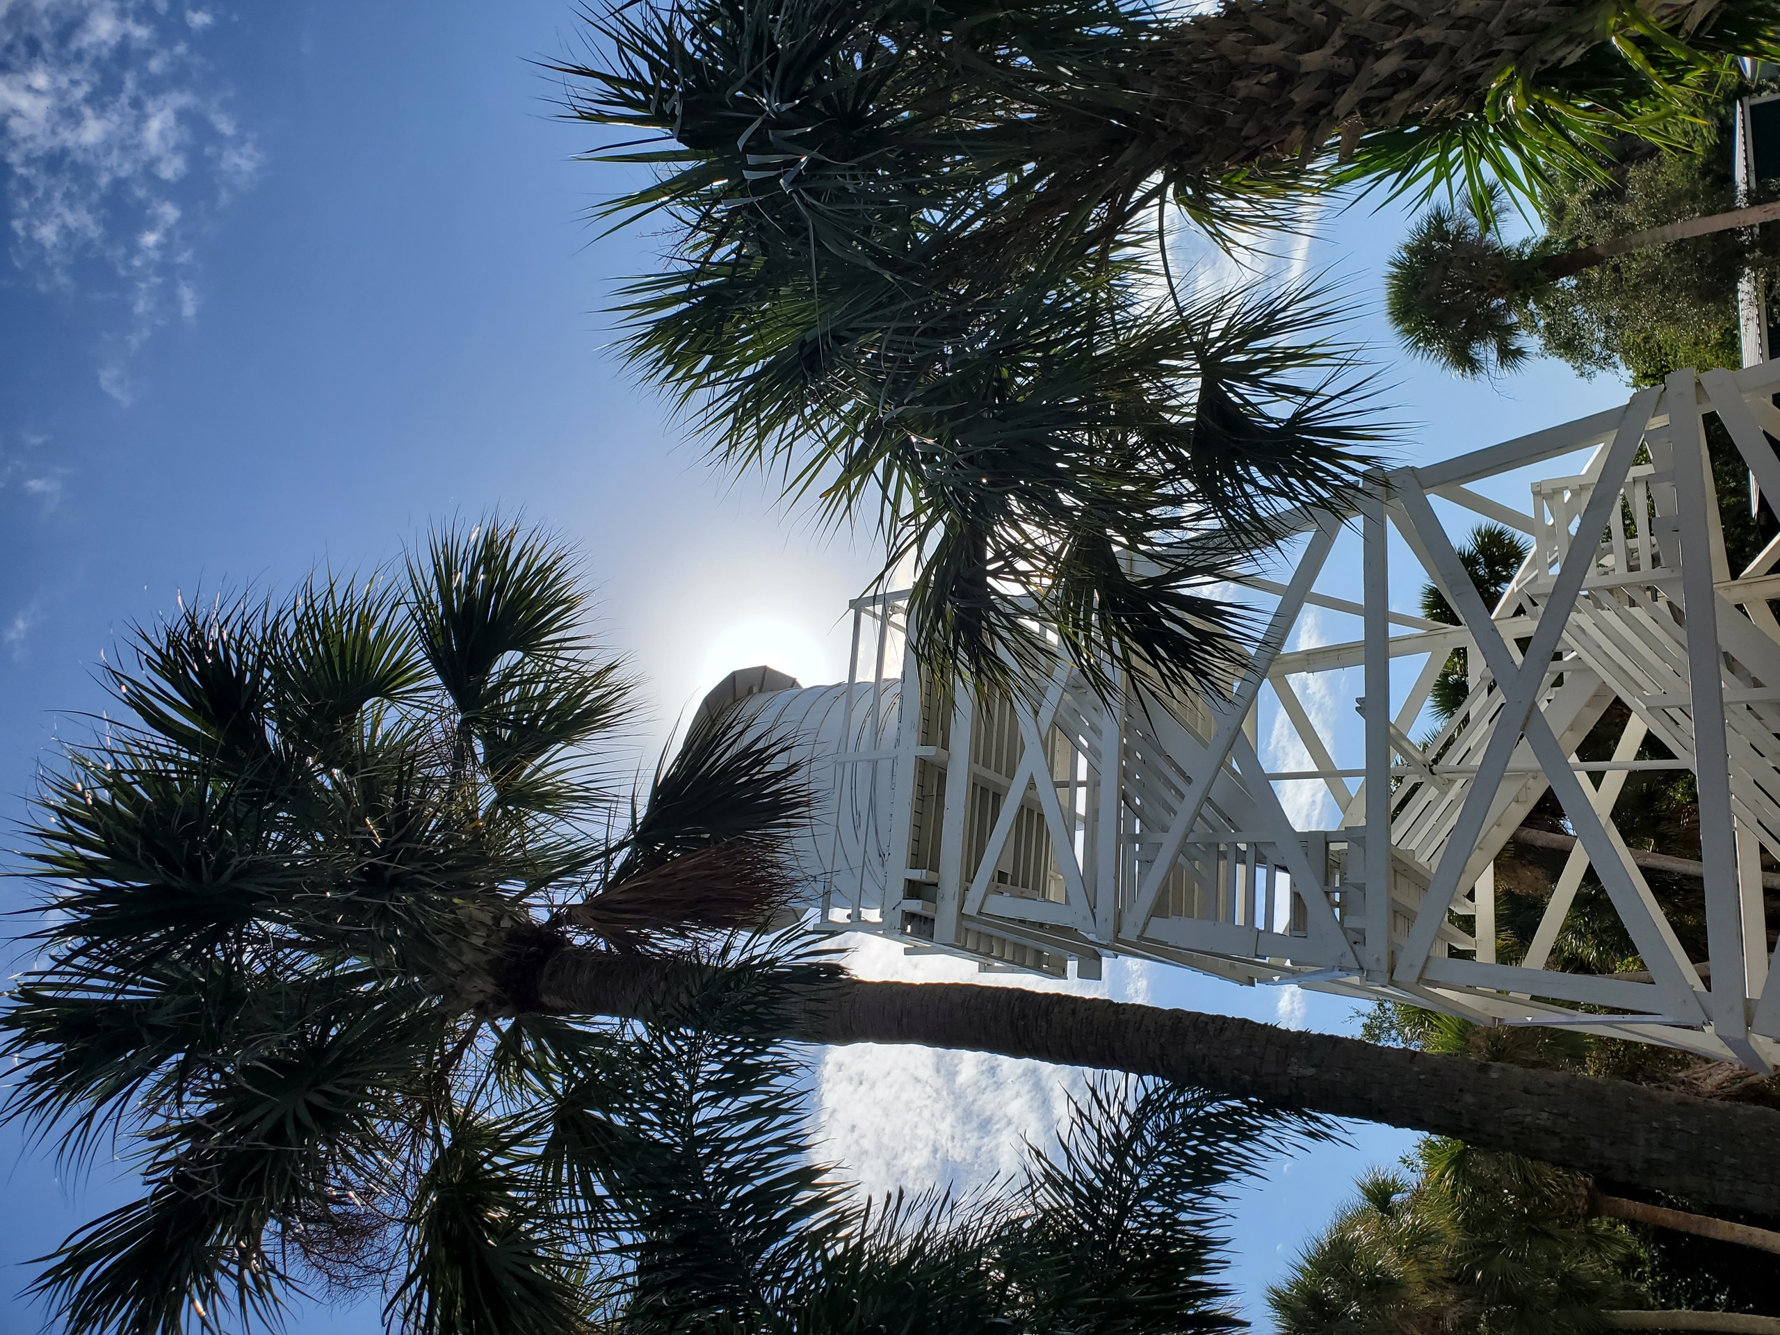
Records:
M415 1330L575 1330L611 1266L653 1255L627 1250L623 1214L632 1241L586 1251L621 1166L587 1166L614 1132L582 1112L650 1088L612 1075L648 1070L614 1018L646 1045L705 1034L675 1052L710 1059L769 1040L968 1047L1465 1136L1702 1203L1762 1210L1780 1191L1780 1112L1760 1107L726 954L712 933L796 888L776 849L805 796L771 739L719 717L619 821L595 748L628 684L584 609L561 546L488 522L372 580L182 607L105 669L116 708L36 805L50 911L0 1016L9 1114L73 1162L117 1145L146 1185L46 1258L37 1289L69 1330L269 1315L310 1271L395 1274L392 1315ZM748 1143L751 1118L723 1134Z

